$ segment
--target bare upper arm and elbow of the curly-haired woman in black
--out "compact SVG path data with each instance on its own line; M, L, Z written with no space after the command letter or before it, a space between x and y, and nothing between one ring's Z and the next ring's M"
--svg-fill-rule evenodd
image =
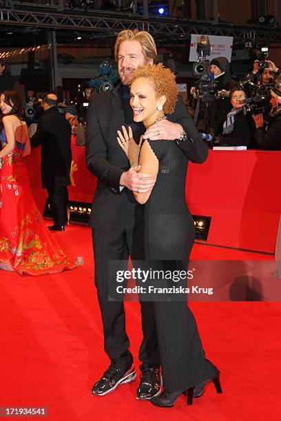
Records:
M139 171L140 175L142 173L149 173L156 180L159 169L159 162L147 140L145 140L143 146L141 147L141 153L139 155L138 164L141 165L141 170ZM145 204L149 199L150 194L152 193L153 187L154 185L151 188L149 188L149 190L145 193L137 193L136 191L134 191L134 197L136 201L140 204Z

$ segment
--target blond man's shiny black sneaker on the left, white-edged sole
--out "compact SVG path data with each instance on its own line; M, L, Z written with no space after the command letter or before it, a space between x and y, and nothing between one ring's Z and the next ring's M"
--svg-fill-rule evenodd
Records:
M111 364L110 367L105 371L103 377L96 382L92 387L92 394L96 396L104 396L116 389L121 383L129 383L135 380L136 371L134 366L125 371L125 373L118 368L116 365Z

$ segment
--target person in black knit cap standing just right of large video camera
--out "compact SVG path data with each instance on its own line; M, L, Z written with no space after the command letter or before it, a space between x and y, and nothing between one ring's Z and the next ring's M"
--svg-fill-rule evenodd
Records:
M209 133L218 136L222 134L223 123L231 110L229 91L238 87L238 84L231 79L230 65L225 57L213 58L210 71L214 73L218 82L217 91L219 98L212 102L209 108L208 129Z

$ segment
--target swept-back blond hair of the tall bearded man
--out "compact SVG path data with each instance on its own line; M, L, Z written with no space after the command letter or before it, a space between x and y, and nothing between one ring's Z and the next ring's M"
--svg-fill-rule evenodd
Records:
M138 41L141 44L145 62L148 63L149 61L152 61L154 64L156 63L156 45L149 32L139 30L124 30L119 32L114 47L114 57L116 61L118 61L119 47L123 41Z

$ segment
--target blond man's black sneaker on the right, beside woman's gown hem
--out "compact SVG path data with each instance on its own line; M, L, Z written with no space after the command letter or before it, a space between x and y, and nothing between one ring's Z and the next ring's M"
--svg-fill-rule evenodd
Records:
M136 392L138 400L149 400L161 393L160 369L158 367L143 367L141 382Z

